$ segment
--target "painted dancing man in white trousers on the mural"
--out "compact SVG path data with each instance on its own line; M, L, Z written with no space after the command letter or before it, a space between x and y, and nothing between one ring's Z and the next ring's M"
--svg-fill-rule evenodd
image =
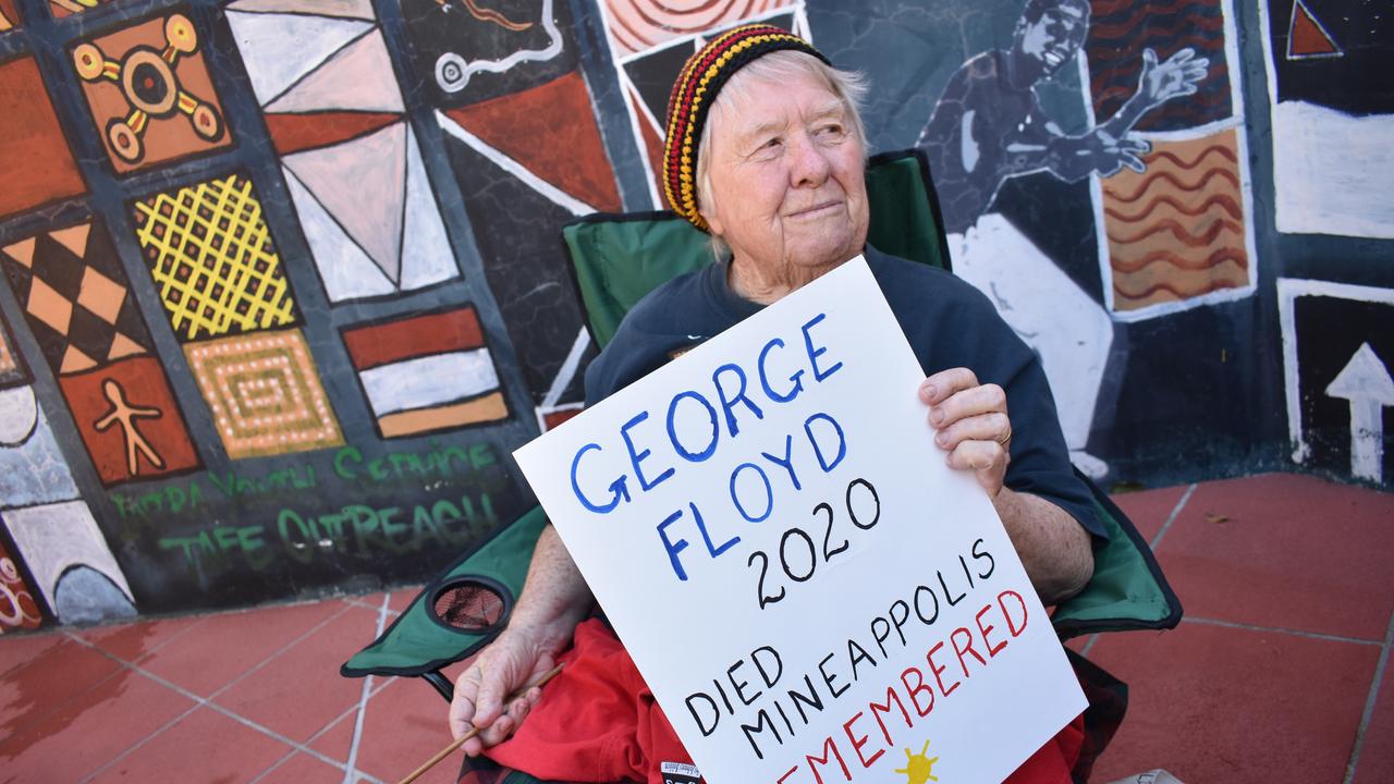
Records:
M993 297L1002 318L1041 354L1075 465L1098 478L1103 460L1085 452L1112 324L1055 264L990 212L1002 183L1048 173L1076 183L1146 170L1150 145L1132 135L1149 112L1193 95L1210 61L1181 49L1165 61L1143 54L1138 92L1107 121L1066 135L1046 114L1036 86L1076 61L1089 35L1086 0L1027 0L1009 49L970 57L949 78L920 134L940 194L953 271Z

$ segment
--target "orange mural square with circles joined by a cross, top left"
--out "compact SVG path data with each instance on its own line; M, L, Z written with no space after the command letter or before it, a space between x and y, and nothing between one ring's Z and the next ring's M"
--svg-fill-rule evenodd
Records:
M204 33L176 11L70 50L118 174L233 144L204 60Z

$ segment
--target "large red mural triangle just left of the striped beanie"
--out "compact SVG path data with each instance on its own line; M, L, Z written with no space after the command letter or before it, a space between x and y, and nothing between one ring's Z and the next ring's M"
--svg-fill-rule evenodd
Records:
M563 193L604 212L623 209L580 71L446 114Z

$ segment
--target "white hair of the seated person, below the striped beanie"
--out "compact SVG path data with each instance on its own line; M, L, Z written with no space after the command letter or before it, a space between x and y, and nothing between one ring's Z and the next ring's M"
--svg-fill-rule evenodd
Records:
M767 84L789 84L799 78L811 77L828 92L835 95L848 112L848 126L852 138L861 148L863 158L867 149L866 126L861 123L861 100L866 98L868 85L866 75L859 71L841 71L818 60L806 52L782 49L760 57L749 66L732 74L730 80L722 85L717 93L717 100L707 110L707 121L703 124L701 138L697 141L697 209L703 206L703 195L711 193L711 126L718 112L730 109L732 103L746 100L750 96L750 82L761 81ZM718 259L723 259L730 248L717 234L711 234L711 250Z

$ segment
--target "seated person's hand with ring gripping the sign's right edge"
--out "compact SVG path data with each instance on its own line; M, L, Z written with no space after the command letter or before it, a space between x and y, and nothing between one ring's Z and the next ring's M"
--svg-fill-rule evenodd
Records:
M920 399L930 406L930 425L938 431L934 442L949 453L949 467L972 470L988 497L997 498L1012 460L1006 392L955 367L926 378Z

